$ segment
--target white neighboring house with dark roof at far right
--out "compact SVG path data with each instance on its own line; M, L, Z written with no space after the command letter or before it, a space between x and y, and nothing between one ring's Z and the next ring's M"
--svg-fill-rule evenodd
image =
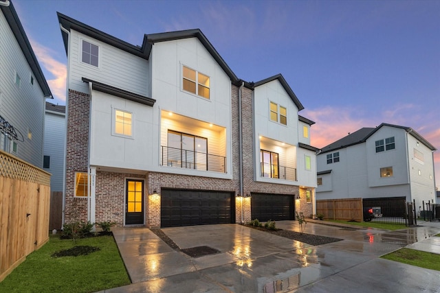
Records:
M435 202L436 150L412 128L361 128L318 154L318 200L392 198Z

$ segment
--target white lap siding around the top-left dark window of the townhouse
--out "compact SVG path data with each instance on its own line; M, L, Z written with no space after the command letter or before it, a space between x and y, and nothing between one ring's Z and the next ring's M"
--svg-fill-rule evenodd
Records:
M151 94L151 75L148 74L147 60L74 30L70 32L69 40L69 89L89 93L88 84L81 80L89 78L139 95ZM98 67L81 61L83 40L98 46Z

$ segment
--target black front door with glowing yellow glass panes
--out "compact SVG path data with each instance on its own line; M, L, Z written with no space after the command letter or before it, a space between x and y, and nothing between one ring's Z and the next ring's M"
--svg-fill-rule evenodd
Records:
M126 180L125 224L144 224L144 180Z

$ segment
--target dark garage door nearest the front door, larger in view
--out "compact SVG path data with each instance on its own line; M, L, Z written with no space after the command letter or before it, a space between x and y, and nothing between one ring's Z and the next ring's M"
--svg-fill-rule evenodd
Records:
M234 194L225 191L162 189L161 226L231 224Z

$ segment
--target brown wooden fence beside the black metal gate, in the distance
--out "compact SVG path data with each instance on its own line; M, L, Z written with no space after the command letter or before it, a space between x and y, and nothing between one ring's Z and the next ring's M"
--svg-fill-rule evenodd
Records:
M316 213L330 220L356 220L362 222L362 198L316 200Z

